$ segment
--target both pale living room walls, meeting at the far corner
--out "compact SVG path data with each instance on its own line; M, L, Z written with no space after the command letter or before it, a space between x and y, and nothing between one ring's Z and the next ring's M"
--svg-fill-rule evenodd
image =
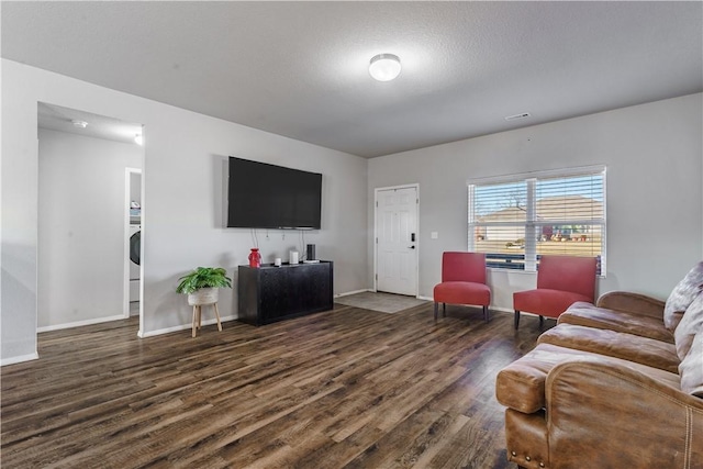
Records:
M143 335L190 322L185 298L174 292L178 277L199 265L234 276L247 261L252 233L222 227L228 155L324 175L323 230L305 242L335 261L335 293L372 284L373 189L410 182L420 183L421 295L432 295L440 253L466 248L469 178L607 165L601 292L663 298L703 254L700 93L367 161L7 59L1 71L1 364L36 356L38 101L145 124ZM429 239L433 231L438 239ZM267 238L258 231L258 239L266 260L300 246L289 232ZM491 272L494 305L511 309L512 291L534 281L531 273ZM223 291L221 312L236 314L234 291Z

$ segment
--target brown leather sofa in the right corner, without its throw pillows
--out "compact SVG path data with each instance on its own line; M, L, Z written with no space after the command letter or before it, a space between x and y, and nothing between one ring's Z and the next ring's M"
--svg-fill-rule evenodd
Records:
M522 468L703 468L703 263L667 302L574 303L500 371L507 458Z

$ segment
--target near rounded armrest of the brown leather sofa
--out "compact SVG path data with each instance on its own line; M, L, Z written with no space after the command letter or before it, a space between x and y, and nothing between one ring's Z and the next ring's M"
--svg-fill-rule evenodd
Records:
M556 366L545 383L551 467L703 467L703 400L672 377L607 358Z

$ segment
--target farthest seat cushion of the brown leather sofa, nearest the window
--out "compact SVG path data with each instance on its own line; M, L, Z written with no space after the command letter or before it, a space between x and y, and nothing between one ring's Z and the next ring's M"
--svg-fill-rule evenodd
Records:
M561 323L624 332L673 343L673 335L663 326L660 317L598 308L585 302L573 303L559 316L559 324Z

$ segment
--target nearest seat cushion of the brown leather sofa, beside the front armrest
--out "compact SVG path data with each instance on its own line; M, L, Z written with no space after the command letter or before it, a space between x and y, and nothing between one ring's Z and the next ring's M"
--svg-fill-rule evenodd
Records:
M495 398L498 402L506 407L527 414L545 407L547 375L557 365L570 359L609 360L666 382L672 389L680 389L678 373L620 358L604 357L590 351L559 347L551 344L539 344L532 351L513 361L498 373L495 379Z

